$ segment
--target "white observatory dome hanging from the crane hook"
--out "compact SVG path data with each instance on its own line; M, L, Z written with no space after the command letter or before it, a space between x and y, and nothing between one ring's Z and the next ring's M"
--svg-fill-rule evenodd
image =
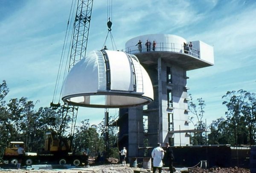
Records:
M124 108L154 99L151 80L134 55L92 51L73 66L64 81L62 100L70 105Z

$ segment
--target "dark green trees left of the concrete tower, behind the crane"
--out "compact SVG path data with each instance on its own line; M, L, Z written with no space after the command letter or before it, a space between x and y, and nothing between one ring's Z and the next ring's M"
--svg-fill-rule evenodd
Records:
M0 157L3 156L5 147L11 141L24 142L26 152L36 152L44 148L46 132L56 132L60 128L61 110L53 110L50 107L35 110L37 102L29 101L25 97L10 99L6 102L8 93L9 88L3 80L0 83ZM75 153L85 151L90 156L104 153L106 130L109 138L108 146L111 146L107 150L108 156L118 158L118 149L114 147L117 128L106 129L104 121L99 125L90 125L89 119L81 121L74 132L73 151Z

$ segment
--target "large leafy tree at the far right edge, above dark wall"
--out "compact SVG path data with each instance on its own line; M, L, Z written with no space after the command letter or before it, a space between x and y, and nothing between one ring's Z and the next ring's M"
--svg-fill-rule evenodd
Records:
M227 91L222 96L227 106L226 118L233 130L235 145L255 144L256 96L244 91Z

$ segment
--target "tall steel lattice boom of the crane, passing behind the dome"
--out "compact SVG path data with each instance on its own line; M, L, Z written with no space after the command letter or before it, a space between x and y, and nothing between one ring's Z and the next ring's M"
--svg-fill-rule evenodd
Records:
M70 40L70 55L67 58L66 71L70 69L82 58L86 56L87 41L89 36L90 20L92 14L93 0L78 0L76 8L76 16L73 23L72 37ZM65 43L64 43L65 44ZM57 78L58 80L58 78ZM59 107L60 104L51 103L53 109ZM55 108L54 108L55 107ZM70 106L64 103L60 108L61 124L57 135L60 139L68 140L73 139L73 134L76 127L76 118L78 113L78 107ZM71 147L71 146L70 146ZM70 148L71 149L71 148Z

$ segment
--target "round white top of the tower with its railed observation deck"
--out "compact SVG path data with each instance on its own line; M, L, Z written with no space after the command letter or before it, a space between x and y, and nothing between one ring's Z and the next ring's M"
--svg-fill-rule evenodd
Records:
M142 42L141 48L137 45L139 40ZM150 48L145 45L147 40L151 42ZM156 43L154 50L153 41ZM202 41L191 41L192 48L186 49L185 45L189 42L171 34L148 34L128 40L125 44L125 51L136 55L140 63L145 65L156 65L158 58L187 71L214 65L212 46Z

